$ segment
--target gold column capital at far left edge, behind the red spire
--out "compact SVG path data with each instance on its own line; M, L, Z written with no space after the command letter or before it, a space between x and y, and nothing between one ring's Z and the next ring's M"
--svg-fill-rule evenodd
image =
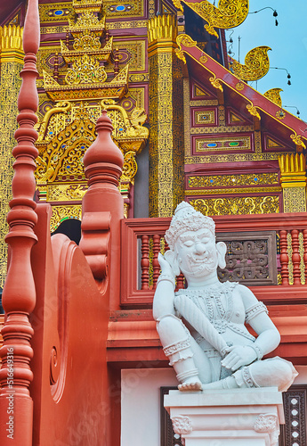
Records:
M0 27L1 62L23 62L22 34L20 25Z

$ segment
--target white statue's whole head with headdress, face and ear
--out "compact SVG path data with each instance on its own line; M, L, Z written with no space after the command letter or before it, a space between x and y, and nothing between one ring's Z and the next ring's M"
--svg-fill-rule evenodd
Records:
M217 266L226 266L226 245L215 244L214 220L195 211L188 202L178 204L165 238L170 248L166 260L177 276L182 270L187 278L206 277Z

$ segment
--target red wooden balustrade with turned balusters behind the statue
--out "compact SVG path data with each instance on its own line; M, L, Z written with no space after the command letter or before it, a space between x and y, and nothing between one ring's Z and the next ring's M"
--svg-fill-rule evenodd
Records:
M307 214L218 216L214 221L216 233L276 231L280 241L281 285L254 286L253 291L264 293L267 300L282 301L283 296L286 300L286 293L298 301L306 299ZM169 224L170 219L122 221L122 307L148 308L151 304L159 275L158 252L167 249L164 234ZM177 288L183 286L183 277L177 277Z

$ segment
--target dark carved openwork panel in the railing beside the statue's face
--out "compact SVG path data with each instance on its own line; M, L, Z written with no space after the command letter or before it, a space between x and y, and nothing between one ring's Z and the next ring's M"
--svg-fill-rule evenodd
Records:
M226 268L218 269L221 282L244 285L277 285L276 232L218 234L227 245Z

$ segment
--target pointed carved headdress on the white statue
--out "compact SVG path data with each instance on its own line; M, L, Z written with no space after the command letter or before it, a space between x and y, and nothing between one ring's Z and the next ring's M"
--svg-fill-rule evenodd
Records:
M180 235L187 231L198 231L201 228L209 229L215 236L214 220L206 217L195 209L188 202L181 202L174 211L171 224L166 231L165 239L172 251Z

